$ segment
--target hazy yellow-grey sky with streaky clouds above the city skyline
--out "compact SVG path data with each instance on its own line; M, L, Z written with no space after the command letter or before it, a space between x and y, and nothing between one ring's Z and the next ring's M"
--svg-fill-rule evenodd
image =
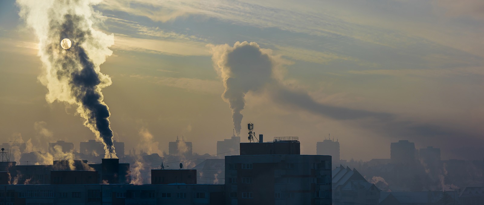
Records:
M348 160L390 158L390 143L404 139L440 148L442 159L484 156L481 0L105 0L92 7L93 27L114 35L113 54L100 65L112 84L102 92L114 139L126 150L158 142L167 152L183 136L194 152L215 154L216 141L233 133L236 101L228 91L235 89L243 142L245 124L254 123L265 140L300 137L303 154L315 154L331 134ZM39 40L19 10L14 0L0 1L0 139L42 146L94 139L75 107L46 100ZM152 142L140 140L147 133Z

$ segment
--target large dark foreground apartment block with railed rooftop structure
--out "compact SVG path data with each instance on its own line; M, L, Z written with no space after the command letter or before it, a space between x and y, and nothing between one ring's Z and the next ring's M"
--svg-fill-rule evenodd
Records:
M331 205L331 156L301 155L297 137L240 148L225 157L227 205Z

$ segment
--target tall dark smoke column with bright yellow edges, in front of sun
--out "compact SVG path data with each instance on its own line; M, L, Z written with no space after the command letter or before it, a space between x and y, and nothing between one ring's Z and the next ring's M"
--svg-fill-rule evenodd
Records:
M45 72L39 80L48 88L46 100L77 106L106 150L106 158L115 158L109 109L103 102L102 88L111 84L99 66L112 55L108 49L114 36L92 28L97 21L92 5L99 0L17 0L19 15L39 39L39 53ZM61 40L72 41L61 48Z

